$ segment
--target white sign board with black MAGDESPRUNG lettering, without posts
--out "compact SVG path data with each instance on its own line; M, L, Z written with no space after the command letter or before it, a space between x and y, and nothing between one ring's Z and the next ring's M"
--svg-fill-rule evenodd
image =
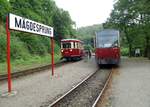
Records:
M52 27L12 13L9 14L9 29L53 37Z

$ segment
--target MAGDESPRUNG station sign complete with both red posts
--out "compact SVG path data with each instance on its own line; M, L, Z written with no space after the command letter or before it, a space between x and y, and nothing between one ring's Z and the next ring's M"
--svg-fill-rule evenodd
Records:
M15 14L9 13L6 16L6 32L7 32L7 72L8 72L8 93L12 91L11 82L11 64L10 64L10 31L16 30L22 32L28 32L38 34L42 36L48 36L51 38L51 59L52 59L52 75L54 75L54 39L53 28L30 19L26 19Z

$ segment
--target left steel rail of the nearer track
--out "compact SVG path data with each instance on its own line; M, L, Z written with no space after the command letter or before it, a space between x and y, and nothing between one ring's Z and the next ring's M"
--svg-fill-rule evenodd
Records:
M80 83L78 83L77 85L75 85L72 89L70 89L68 92L66 92L64 95L62 95L61 97L59 97L57 100L55 100L53 103L51 103L48 107L55 107L55 105L57 103L59 103L64 97L66 97L68 94L70 94L71 92L73 92L77 87L79 87L82 83L84 83L86 80L88 80L91 76L93 76L98 70L96 70L95 72L90 73L86 78L84 78Z

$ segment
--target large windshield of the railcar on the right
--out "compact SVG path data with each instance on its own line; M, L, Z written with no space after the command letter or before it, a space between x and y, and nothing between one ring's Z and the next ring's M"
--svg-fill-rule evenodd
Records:
M110 32L101 32L97 36L97 46L100 48L108 48L118 46L118 34Z

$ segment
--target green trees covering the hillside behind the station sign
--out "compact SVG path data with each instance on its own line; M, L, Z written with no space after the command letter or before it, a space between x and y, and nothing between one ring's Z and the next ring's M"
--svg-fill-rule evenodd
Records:
M54 27L55 43L70 38L70 35L75 37L75 23L68 11L58 8L54 0L0 0L0 62L5 60L5 18L9 12ZM12 59L42 56L51 51L49 38L15 31L11 32L11 46ZM58 44L55 45L55 53L59 53Z

